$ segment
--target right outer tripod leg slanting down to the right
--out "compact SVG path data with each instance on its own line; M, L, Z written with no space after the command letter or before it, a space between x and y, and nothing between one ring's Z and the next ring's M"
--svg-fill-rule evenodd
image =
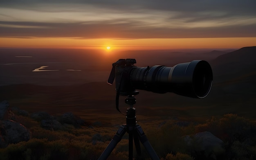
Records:
M159 157L157 156L157 153L155 153L155 150L153 149L153 147L150 145L150 142L148 141L148 138L146 137L146 135L144 134L142 128L140 125L136 125L135 127L138 136L139 136L139 140L142 143L142 145L145 147L146 151L148 152L150 158L152 160L160 160Z

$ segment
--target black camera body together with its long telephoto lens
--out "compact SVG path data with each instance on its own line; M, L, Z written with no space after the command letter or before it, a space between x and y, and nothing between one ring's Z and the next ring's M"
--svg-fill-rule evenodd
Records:
M193 60L173 67L137 67L134 64L135 59L119 59L112 64L108 83L116 79L116 90L122 96L136 95L138 89L204 98L211 90L213 73L207 61Z

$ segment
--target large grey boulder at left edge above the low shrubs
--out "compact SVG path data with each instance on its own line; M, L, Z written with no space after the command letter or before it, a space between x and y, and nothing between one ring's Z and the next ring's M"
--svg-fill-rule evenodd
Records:
M31 138L29 130L14 121L2 121L3 129L6 131L8 143L18 143L21 141L28 141Z

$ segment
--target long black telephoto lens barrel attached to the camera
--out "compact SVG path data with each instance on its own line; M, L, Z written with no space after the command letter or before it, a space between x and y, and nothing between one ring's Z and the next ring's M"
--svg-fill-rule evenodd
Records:
M156 93L173 92L192 98L204 98L211 90L213 73L207 61L194 60L173 67L132 67L133 88Z

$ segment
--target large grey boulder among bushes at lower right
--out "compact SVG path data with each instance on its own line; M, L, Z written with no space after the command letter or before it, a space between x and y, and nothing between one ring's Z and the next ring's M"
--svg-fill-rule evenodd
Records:
M200 132L194 136L185 136L188 148L195 153L195 157L204 160L217 160L225 155L224 142L211 134Z

